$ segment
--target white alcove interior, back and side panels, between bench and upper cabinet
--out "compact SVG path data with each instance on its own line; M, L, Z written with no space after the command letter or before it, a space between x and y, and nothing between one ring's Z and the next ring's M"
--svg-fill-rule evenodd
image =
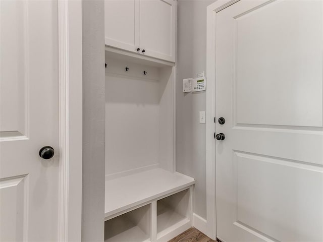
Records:
M136 169L173 171L174 68L139 64L108 51L105 61L106 178Z

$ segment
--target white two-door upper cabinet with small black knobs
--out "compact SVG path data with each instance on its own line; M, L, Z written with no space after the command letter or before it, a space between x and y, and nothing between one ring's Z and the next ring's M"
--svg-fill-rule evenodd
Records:
M174 0L105 0L106 45L175 62L175 38Z

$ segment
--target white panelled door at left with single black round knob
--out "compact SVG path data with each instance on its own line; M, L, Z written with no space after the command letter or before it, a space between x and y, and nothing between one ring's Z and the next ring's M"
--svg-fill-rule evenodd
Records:
M1 0L0 241L58 240L58 157L57 1Z

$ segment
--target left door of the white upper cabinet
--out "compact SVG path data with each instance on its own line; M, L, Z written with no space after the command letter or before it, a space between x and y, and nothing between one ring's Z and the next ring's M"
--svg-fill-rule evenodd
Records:
M137 52L139 0L104 0L105 45Z

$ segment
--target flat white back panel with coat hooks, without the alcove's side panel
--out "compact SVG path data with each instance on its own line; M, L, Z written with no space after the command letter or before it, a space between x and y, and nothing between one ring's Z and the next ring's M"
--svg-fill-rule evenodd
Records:
M105 175L158 165L159 69L106 59Z

